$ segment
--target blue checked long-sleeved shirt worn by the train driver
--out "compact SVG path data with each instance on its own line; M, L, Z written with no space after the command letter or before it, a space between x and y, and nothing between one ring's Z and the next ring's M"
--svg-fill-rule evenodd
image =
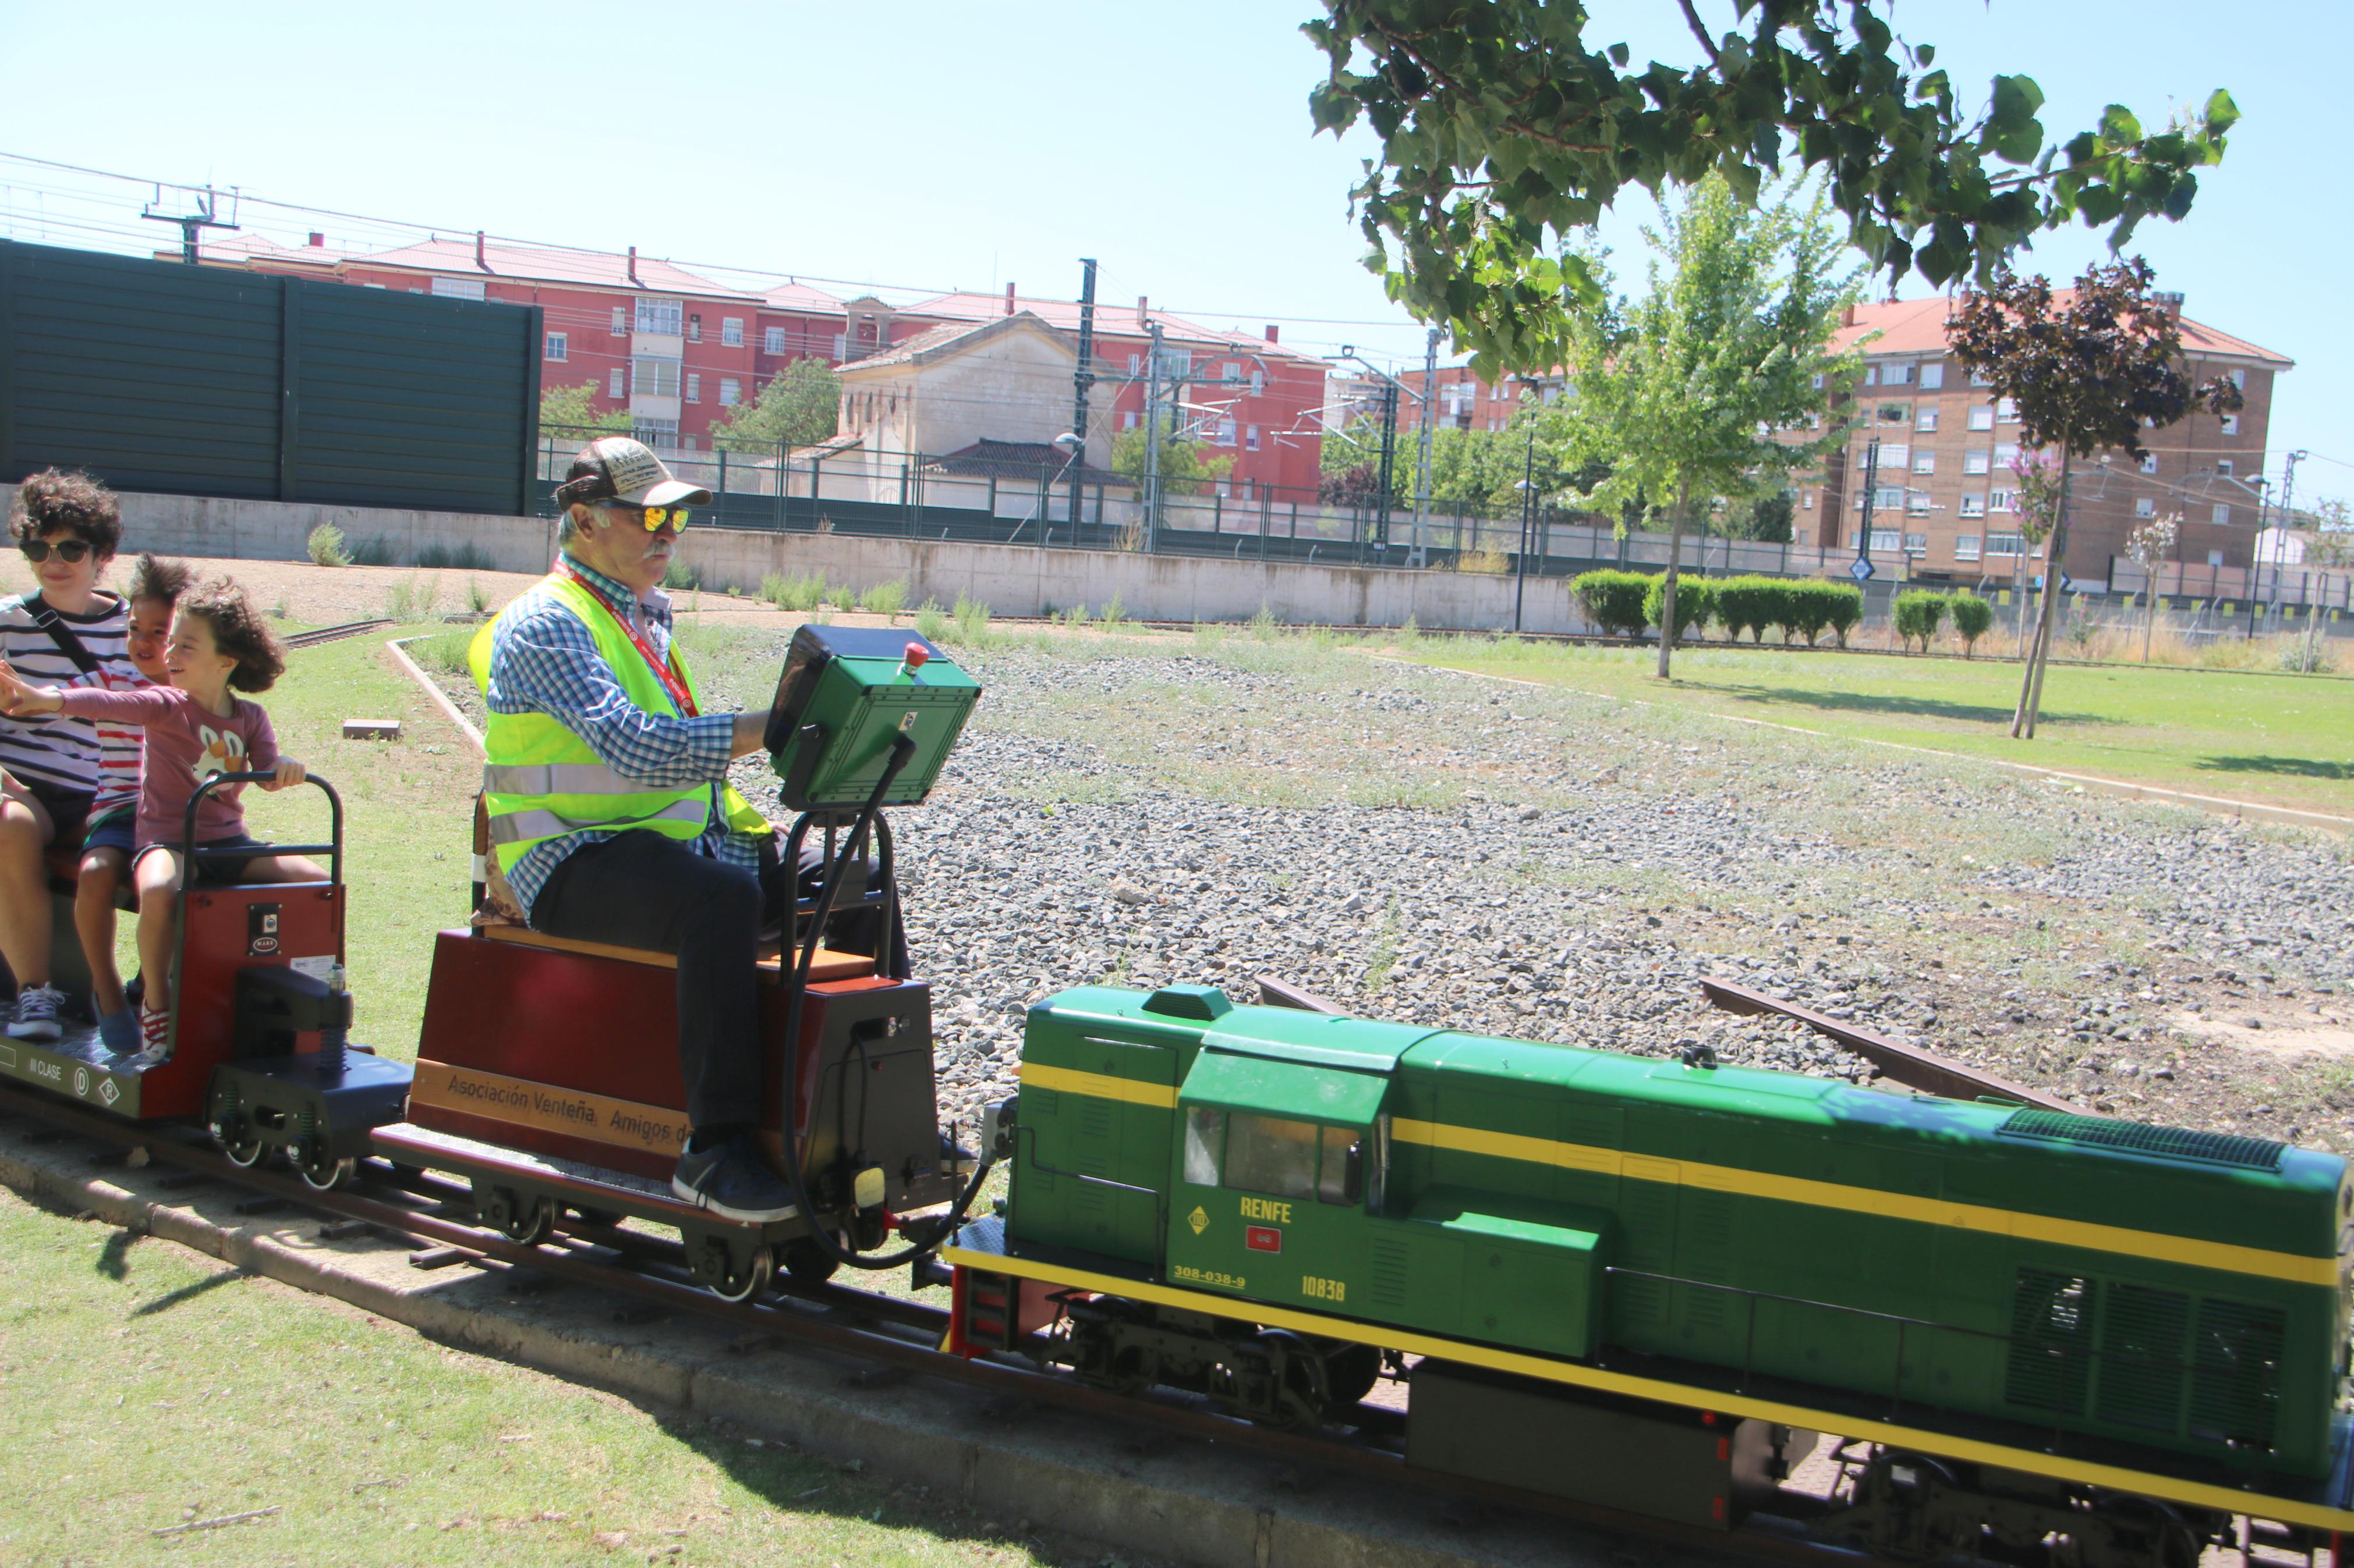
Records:
M591 571L572 557L565 562L607 604L636 604L638 630L654 654L669 661L671 595L657 588L643 599L633 599L629 588L610 576ZM734 715L706 712L680 719L638 708L614 679L605 656L598 654L596 635L581 625L570 604L544 585L525 592L499 616L499 630L490 646L490 691L483 701L492 712L544 712L563 722L588 743L588 750L605 766L624 778L654 788L709 783L711 827L694 842L694 849L758 872L760 839L749 832L730 832L720 799L720 783L727 778L734 750ZM567 832L523 851L516 870L506 872L506 884L516 889L525 919L530 919L539 889L548 884L548 875L565 863L565 856L610 837L614 835Z

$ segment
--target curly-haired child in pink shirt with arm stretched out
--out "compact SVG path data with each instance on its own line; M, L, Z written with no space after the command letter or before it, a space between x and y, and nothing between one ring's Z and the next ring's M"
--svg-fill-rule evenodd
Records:
M181 597L172 614L172 642L165 649L169 686L146 691L92 691L28 686L0 663L0 712L139 724L146 745L139 764L139 818L134 823L137 856L132 877L139 886L139 969L146 997L139 1032L146 1048L132 1058L155 1065L172 1056L172 914L186 860L181 832L188 799L198 783L214 773L273 773L264 790L285 790L304 778L304 766L278 755L271 717L261 703L235 691L268 691L285 672L285 654L268 625L254 614L245 590L217 578ZM268 849L245 835L238 795L245 785L226 785L205 797L195 811L198 849ZM254 853L242 865L210 860L198 867L202 882L325 882L327 872L301 856Z

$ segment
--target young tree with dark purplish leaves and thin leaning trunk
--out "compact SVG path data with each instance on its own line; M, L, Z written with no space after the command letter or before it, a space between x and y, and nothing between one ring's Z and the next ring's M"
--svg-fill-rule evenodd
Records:
M2043 609L2020 679L2020 708L2010 719L2015 738L2034 738L2036 710L2043 705L2060 567L2067 562L2072 463L2119 447L2140 458L2142 430L2161 430L2192 407L2229 414L2243 402L2229 378L2192 386L2175 367L2182 357L2182 327L2149 296L2149 263L2140 256L2095 266L2076 280L2062 306L2053 301L2053 287L2043 277L2022 280L2010 268L1996 268L1994 282L1968 294L1947 327L1954 357L2017 404L2024 444L2060 449Z

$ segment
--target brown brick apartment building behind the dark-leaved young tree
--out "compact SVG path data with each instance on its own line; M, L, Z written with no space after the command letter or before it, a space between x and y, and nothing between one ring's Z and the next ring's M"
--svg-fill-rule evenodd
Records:
M1824 473L1798 482L1796 543L1857 545L1869 463L1874 555L1897 555L1911 576L1949 583L2008 578L2020 564L2017 411L1951 357L1951 308L1944 296L1857 306L1838 329L1834 346L1862 348L1864 374L1824 418L1853 421L1853 437ZM2180 315L2180 296L2173 308L2189 376L2229 376L2246 407L2152 430L2140 463L2119 451L2076 465L2064 567L2079 583L2104 581L2135 524L2166 512L2182 515L2175 559L2253 564L2272 381L2293 360Z

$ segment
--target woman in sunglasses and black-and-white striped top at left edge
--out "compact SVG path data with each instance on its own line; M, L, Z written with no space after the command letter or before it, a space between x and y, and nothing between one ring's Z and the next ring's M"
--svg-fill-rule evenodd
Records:
M122 543L113 491L82 473L47 468L16 489L9 543L33 569L33 592L0 599L0 661L45 686L71 686L97 668L132 670L129 618L99 574ZM49 896L40 856L82 846L99 783L89 719L0 715L0 959L16 978L7 1034L61 1034L64 997L49 985Z

